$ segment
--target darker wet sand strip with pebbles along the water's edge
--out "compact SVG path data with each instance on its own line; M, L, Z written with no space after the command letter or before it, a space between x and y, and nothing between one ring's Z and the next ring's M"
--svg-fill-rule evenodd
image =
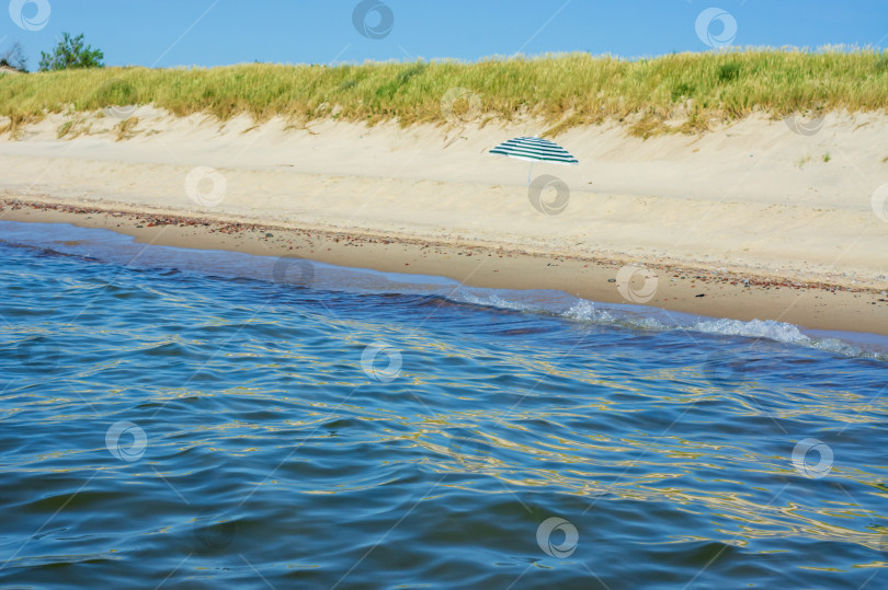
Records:
M812 329L888 335L888 296L851 280L804 282L764 273L664 264L642 256L534 252L493 241L418 238L114 203L80 205L52 197L0 197L0 219L107 229L146 244L442 276L471 287L551 289L596 302L645 304L714 319L773 320ZM627 292L648 297L645 279L652 276L636 274L626 281L618 273L627 265L644 266L657 276L650 300L624 297Z

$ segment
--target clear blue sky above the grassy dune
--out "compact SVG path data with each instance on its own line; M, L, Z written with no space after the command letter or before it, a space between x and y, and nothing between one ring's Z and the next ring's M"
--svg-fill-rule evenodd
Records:
M353 24L356 0L0 0L0 50L19 41L36 68L62 31L84 33L109 66L217 66L243 61L366 59L590 51L625 57L703 51L698 14L717 7L737 24L731 45L886 47L888 0L375 0L394 18L374 39ZM48 20L26 31L10 11ZM45 10L45 7L44 7ZM384 9L385 10L385 9ZM382 16L385 19L385 16ZM380 23L371 12L371 30ZM26 24L26 23L25 23ZM713 34L724 33L724 22Z

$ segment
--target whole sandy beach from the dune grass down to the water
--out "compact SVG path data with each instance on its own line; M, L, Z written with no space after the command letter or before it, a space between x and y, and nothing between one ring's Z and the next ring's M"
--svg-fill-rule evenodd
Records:
M532 206L527 163L486 153L540 132L533 122L296 129L148 107L135 117L122 141L118 120L98 114L50 116L0 141L3 219L888 334L884 115L832 114L811 135L765 117L647 141L618 124L577 128L556 140L579 166L534 167L569 188L557 215ZM198 166L216 173L189 189ZM642 273L617 288L625 265L658 276L649 300Z

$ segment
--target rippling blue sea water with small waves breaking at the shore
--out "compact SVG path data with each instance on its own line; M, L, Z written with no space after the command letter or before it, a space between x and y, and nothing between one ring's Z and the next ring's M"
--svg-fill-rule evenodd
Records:
M0 585L888 587L884 338L0 240Z

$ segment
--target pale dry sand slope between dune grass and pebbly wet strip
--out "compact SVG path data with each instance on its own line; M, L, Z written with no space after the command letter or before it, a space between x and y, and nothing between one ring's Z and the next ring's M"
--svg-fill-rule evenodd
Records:
M99 115L76 122L88 132L75 139L57 139L71 119L52 116L0 141L0 190L888 288L888 213L872 199L888 183L884 115L833 114L813 135L764 117L647 141L616 124L573 129L556 140L579 166L534 167L569 187L558 215L531 205L525 162L486 153L539 132L533 123L294 129L147 107L136 117L124 141ZM218 171L216 184L196 184L203 203L186 188L196 166Z

